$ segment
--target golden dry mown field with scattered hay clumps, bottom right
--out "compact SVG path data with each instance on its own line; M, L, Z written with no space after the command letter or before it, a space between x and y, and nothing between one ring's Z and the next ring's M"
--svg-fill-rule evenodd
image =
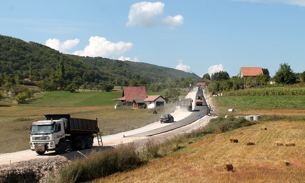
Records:
M167 157L95 182L305 182L303 126L303 122L265 122L207 135ZM232 137L241 143L228 142ZM244 145L249 141L255 145ZM276 141L297 145L272 145ZM234 171L225 170L225 163Z

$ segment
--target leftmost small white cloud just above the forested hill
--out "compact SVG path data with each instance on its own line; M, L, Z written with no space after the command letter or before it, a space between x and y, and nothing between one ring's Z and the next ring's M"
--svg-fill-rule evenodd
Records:
M59 52L68 53L66 50L73 48L79 43L79 39L67 40L64 42L60 42L59 39L48 39L45 41L45 45L58 50Z

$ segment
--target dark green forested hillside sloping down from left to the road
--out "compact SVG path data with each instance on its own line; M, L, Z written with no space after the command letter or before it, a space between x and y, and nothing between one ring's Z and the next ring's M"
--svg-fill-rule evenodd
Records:
M64 63L63 78L59 74L60 59ZM42 78L73 81L77 76L83 82L110 84L129 84L133 79L146 79L151 84L164 83L168 78L201 79L194 73L147 63L63 54L45 45L3 35L0 35L0 65L0 73L30 75L32 81Z

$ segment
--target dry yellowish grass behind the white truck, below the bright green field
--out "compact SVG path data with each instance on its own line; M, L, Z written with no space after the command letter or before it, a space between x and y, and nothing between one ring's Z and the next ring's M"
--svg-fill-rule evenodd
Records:
M168 105L168 110L171 109ZM158 115L166 111L157 108ZM17 152L30 148L30 125L35 119L45 120L44 113L69 113L71 117L95 119L103 135L120 133L156 122L152 109L114 109L114 106L37 107L2 105L0 112L0 153ZM159 114L160 113L160 114ZM164 112L167 113L167 112ZM158 119L158 116L157 116ZM7 143L10 143L7 145Z

